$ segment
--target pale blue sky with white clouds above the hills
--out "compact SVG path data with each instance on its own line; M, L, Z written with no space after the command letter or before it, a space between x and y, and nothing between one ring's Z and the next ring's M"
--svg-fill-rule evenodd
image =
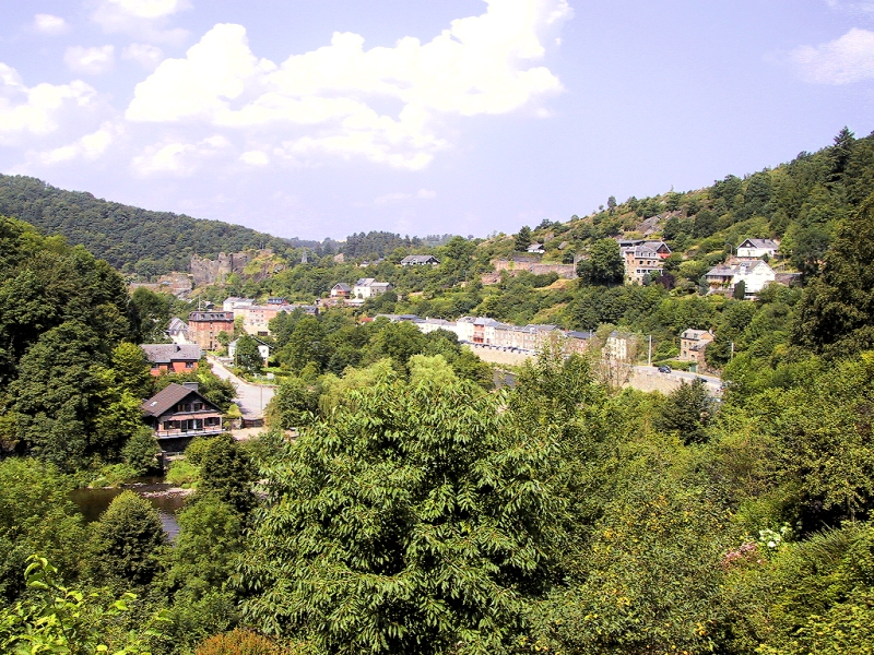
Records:
M0 172L484 237L874 130L874 0L0 0Z

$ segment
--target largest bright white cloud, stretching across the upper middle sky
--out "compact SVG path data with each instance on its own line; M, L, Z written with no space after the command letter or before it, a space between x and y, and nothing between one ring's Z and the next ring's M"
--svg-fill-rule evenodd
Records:
M366 50L362 36L335 33L281 66L252 53L241 25L218 24L138 84L126 117L260 130L297 163L327 154L424 168L449 145L437 133L448 117L536 111L563 88L532 62L545 55L541 39L570 17L567 0L486 3L425 44L404 37ZM397 114L378 112L375 99Z

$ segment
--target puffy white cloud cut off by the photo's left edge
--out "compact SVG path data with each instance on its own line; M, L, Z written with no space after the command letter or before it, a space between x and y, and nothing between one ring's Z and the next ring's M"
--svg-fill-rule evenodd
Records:
M15 69L0 63L0 143L50 134L71 108L92 105L96 95L81 80L27 87Z

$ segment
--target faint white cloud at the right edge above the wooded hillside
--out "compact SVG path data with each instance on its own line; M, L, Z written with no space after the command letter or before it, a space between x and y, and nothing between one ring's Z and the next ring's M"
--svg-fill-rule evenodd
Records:
M874 79L874 32L854 27L834 41L796 48L790 59L807 82L850 84Z

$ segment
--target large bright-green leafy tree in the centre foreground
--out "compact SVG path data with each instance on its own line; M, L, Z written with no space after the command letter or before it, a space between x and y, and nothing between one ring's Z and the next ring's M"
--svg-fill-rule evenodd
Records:
M267 472L244 611L319 652L509 652L544 579L536 434L469 383L381 382Z

